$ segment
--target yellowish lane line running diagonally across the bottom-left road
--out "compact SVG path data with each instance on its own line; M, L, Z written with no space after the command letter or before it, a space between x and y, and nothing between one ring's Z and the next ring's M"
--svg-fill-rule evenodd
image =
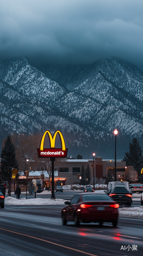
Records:
M60 247L63 247L63 248L69 249L69 250L81 252L81 253L84 253L84 254L89 255L89 256L99 256L99 255L96 255L96 254L92 254L92 253L89 253L89 252L85 252L85 251L74 249L74 248L71 248L71 247L68 247L68 246L57 244L57 243L54 243L54 242L51 242L51 241L47 241L47 240L44 240L44 239L41 239L41 238L36 238L36 237L33 237L33 236L29 236L29 234L22 234L22 233L11 231L11 230L8 230L8 229L5 229L5 228L0 228L0 230L4 230L4 231L11 232L11 233L14 233L14 234L20 234L20 236L33 238L33 239L36 239L36 240L39 240L39 241L42 241L42 242L45 242L45 243L49 243L49 244L57 245L57 246L60 246Z

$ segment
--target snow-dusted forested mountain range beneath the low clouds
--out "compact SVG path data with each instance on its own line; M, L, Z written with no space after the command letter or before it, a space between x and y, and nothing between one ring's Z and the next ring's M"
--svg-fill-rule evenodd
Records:
M71 148L89 152L96 143L102 154L115 127L121 141L143 134L142 73L121 59L38 68L24 57L2 60L0 92L1 137L60 129Z

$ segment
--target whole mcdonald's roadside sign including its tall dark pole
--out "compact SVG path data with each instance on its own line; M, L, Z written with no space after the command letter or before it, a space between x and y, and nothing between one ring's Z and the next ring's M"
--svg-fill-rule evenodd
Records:
M49 136L50 140L50 148L44 148L44 140L46 134ZM59 134L60 141L61 141L61 148L55 148L55 141L57 134ZM41 141L40 141L40 148L37 148L38 157L40 158L50 158L50 161L52 162L52 199L55 199L54 194L54 162L55 158L65 158L67 156L67 148L65 147L65 141L63 138L63 135L60 131L56 131L54 135L52 136L49 131L45 131L42 135Z

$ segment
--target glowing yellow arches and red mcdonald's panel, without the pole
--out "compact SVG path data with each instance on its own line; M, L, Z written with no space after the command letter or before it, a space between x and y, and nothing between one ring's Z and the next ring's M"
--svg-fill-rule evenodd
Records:
M50 148L44 148L44 140L46 134L49 136L50 140ZM61 140L61 148L55 148L55 141L57 134L60 136ZM65 147L65 141L63 135L60 131L56 131L55 134L52 136L49 131L45 131L40 142L40 148L37 148L38 157L66 157L67 155L67 148Z

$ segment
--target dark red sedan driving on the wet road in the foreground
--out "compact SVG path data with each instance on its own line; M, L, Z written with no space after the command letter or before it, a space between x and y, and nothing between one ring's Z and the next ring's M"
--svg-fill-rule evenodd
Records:
M100 225L103 222L112 222L114 227L117 225L119 205L107 194L82 193L65 204L68 206L61 212L63 225L67 221L74 221L76 226L80 222L99 222Z

